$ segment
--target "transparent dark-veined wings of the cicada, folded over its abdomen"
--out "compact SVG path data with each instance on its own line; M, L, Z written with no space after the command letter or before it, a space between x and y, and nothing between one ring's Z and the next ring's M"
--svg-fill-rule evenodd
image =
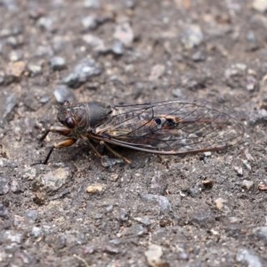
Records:
M96 138L159 154L222 150L243 136L243 126L230 114L231 110L208 102L116 106L109 119L96 128Z

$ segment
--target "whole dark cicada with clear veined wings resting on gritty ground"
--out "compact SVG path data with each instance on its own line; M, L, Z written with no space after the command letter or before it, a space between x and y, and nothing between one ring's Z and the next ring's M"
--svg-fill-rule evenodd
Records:
M161 101L134 105L109 106L97 101L70 104L57 108L61 126L49 132L67 138L53 144L44 160L48 162L54 149L73 145L77 140L95 148L100 142L119 158L112 146L143 152L178 155L223 150L237 144L244 128L228 109L202 101ZM111 145L111 146L110 146ZM125 162L130 160L123 158Z

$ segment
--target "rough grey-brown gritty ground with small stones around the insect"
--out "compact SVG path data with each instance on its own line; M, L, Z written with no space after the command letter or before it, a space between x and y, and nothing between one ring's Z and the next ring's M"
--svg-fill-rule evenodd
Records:
M0 265L267 266L264 2L0 0ZM32 166L58 102L172 99L231 107L242 141Z

